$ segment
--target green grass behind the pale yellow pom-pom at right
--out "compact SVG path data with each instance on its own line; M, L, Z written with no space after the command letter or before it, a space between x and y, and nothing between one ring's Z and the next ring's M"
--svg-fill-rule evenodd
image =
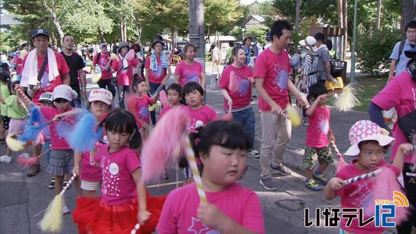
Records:
M360 105L357 105L353 109L355 111L367 111L370 100L377 94L381 89L385 87L387 76L363 76L356 78L356 82L359 84L360 91L358 92L358 100ZM333 105L333 99L328 101L329 105Z

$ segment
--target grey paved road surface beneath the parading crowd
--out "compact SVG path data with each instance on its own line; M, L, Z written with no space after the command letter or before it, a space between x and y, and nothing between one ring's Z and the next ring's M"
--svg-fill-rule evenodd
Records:
M215 76L215 74L213 75ZM172 82L172 78L170 82ZM207 84L211 84L211 73L207 71ZM89 84L92 89L96 84ZM214 87L214 86L213 86ZM223 98L219 89L207 88L207 104L222 114ZM259 150L261 139L259 125L259 111L257 101L253 102L256 113L256 146ZM367 118L367 114L358 111L340 113L331 110L331 127L338 139L338 147L344 152L348 147L347 132L356 120ZM288 177L276 177L279 184L276 192L264 190L259 184L260 165L258 159L248 159L248 170L239 181L243 186L251 188L261 199L263 215L265 217L267 233L338 233L338 228L305 228L304 208L334 207L339 206L339 200L326 201L323 192L315 192L304 186L300 159L302 158L305 141L306 127L293 128L292 140L284 156L285 163L298 173ZM0 155L5 154L5 146L0 145ZM17 156L17 154L13 154ZM350 159L346 159L347 161ZM43 216L42 210L46 208L53 196L53 190L47 188L51 177L44 171L45 163L42 161L42 171L36 177L26 177L26 171L19 168L15 160L6 165L0 164L0 234L8 233L42 233L37 223ZM329 174L333 174L333 167L329 168ZM175 181L176 172L169 172L170 179ZM181 179L181 178L180 178ZM175 186L162 186L150 188L154 195L164 194ZM75 208L76 192L71 188L64 195L67 206ZM311 214L311 219L315 216ZM322 220L322 218L321 218ZM323 220L322 220L323 221ZM76 226L71 221L71 215L64 216L62 233L76 233Z

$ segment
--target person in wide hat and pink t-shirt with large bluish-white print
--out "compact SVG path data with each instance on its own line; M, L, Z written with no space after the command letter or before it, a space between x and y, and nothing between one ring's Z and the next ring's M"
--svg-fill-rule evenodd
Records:
M164 53L162 53L163 46L164 42L156 38L152 43L153 53L146 58L146 64L144 65L144 78L148 90L150 89L150 94L153 94L159 86L164 87L171 75L171 66ZM150 118L153 125L155 125L155 111L150 111Z

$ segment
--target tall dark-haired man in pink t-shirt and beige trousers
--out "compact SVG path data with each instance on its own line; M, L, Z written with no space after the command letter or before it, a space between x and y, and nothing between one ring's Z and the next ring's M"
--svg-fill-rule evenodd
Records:
M289 80L291 65L285 48L291 42L292 26L288 21L277 20L270 28L272 45L263 51L256 60L254 79L259 93L259 110L261 118L261 185L267 190L277 190L272 181L272 171L291 174L292 171L283 164L286 144L291 139L291 122L286 118L284 109L289 103L288 91L301 100L306 100ZM278 134L277 140L276 133Z

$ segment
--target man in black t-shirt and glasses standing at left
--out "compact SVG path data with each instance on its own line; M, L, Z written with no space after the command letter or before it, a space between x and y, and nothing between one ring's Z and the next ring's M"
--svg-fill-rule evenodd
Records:
M65 61L68 64L69 67L69 77L71 78L71 81L69 82L69 86L78 93L78 97L76 100L73 100L71 102L72 107L81 107L81 98L85 97L87 91L86 91L86 84L85 84L85 78L84 78L84 71L83 68L85 67L83 57L78 55L78 53L73 52L73 37L69 34L64 35L63 39L64 44L64 51L61 52L62 56L64 56ZM81 87L80 89L80 82L81 81Z

